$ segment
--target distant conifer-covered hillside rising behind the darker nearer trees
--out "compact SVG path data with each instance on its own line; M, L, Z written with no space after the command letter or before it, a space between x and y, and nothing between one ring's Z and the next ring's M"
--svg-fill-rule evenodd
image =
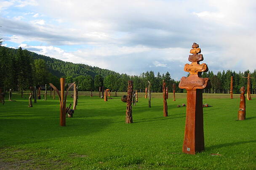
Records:
M18 49L8 48L8 47L0 47L0 48L6 48L8 50L9 54L16 54ZM57 77L61 76L71 76L71 77L77 77L80 75L90 75L93 78L99 74L103 77L106 77L110 74L118 74L115 71L110 71L107 69L102 69L99 67L93 67L86 64L75 64L71 62L65 62L62 60L58 60L55 58L51 58L45 55L40 55L35 52L28 51L29 54L33 57L33 59L43 59L46 62L46 65L49 68L49 71Z

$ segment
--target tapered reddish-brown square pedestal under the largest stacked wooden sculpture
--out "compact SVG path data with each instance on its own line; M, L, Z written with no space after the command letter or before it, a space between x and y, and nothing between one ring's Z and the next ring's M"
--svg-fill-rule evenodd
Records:
M204 150L203 90L187 91L187 115L182 152L195 154Z

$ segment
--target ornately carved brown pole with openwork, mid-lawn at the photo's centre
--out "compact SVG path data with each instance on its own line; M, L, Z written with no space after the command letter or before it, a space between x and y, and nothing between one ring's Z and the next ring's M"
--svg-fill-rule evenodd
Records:
M127 89L125 123L133 123L132 106L131 106L132 100L133 100L133 81L129 80L128 89Z

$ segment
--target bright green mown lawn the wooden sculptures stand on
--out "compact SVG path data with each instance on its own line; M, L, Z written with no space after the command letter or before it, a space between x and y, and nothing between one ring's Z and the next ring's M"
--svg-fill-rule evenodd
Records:
M48 93L49 94L49 93ZM108 102L93 93L79 94L73 118L59 126L59 99L48 96L28 107L28 96L0 105L0 169L8 170L255 170L256 95L246 100L246 120L236 121L239 94L203 94L205 152L181 153L186 94L169 93L168 117L163 117L161 93L144 93L133 106L132 124L125 124L126 103L120 96ZM86 96L85 96L86 95ZM112 93L114 95L114 93ZM70 97L70 95L69 95ZM67 104L72 102L68 98ZM221 155L211 155L221 154Z

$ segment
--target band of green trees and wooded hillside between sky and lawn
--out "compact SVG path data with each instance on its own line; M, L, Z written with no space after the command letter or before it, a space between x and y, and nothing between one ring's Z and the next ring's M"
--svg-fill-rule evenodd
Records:
M233 76L233 93L240 93L241 86L247 84L247 74L250 71L219 71L214 74L212 71L202 73L202 77L211 80L211 88L204 89L205 93L229 93L230 78ZM171 74L156 74L153 71L141 73L139 76L129 76L119 74L115 71L92 67L85 64L74 64L64 62L44 55L38 55L28 50L12 49L0 46L0 87L8 90L27 90L29 86L49 84L49 82L59 87L59 78L65 77L66 83L77 82L80 91L98 91L104 86L116 92L126 92L128 80L133 81L133 89L145 92L148 81L152 84L152 92L162 92L163 79L169 92L173 90L175 84L176 92L185 92L179 89L179 81L171 78ZM251 73L251 93L256 90L256 71Z

